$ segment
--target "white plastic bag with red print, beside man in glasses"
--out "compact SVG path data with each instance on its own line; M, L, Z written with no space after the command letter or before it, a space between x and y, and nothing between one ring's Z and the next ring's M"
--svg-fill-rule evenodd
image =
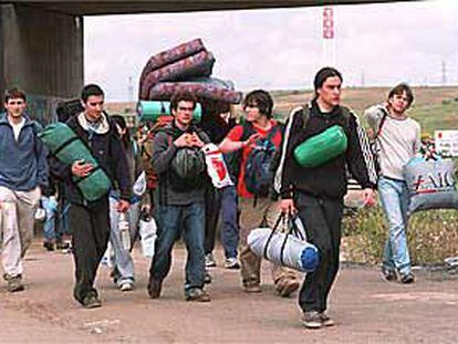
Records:
M211 184L218 189L232 186L233 183L219 148L214 144L207 144L202 147L202 152L205 153L207 174L211 178Z

